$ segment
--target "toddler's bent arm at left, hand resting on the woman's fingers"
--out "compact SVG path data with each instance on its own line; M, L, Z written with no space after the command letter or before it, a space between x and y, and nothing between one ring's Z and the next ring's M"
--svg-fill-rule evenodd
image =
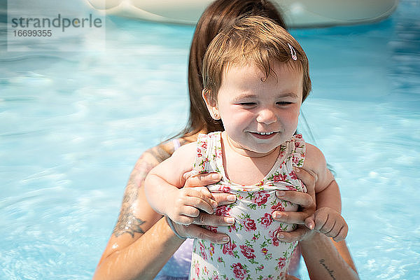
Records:
M217 203L205 187L182 188L195 160L196 143L182 146L149 172L145 181L148 203L175 223L190 225L200 210L213 214Z

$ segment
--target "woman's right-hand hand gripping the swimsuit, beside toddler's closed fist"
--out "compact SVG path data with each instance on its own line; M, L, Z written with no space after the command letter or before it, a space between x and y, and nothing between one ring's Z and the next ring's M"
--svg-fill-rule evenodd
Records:
M302 180L307 187L307 193L301 193L293 190L279 190L276 196L281 200L286 200L300 205L300 211L274 211L272 216L275 221L297 224L297 229L292 232L280 232L277 238L282 241L300 241L307 239L313 235L314 222L309 218L312 216L316 209L315 204L315 183L316 174L309 172L305 169L295 168L297 178Z

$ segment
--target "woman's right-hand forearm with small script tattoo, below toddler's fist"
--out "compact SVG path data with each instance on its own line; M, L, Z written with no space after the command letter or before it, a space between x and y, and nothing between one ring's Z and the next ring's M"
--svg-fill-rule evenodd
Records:
M300 241L300 248L311 280L357 280L353 260L344 241L337 243L321 233ZM338 249L338 250L337 250Z

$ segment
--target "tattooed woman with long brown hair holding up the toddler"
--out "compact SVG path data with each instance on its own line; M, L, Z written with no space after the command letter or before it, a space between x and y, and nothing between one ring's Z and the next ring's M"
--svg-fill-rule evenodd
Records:
M186 143L195 141L200 132L223 130L221 123L215 123L209 116L202 100L201 64L204 52L210 41L224 26L230 25L239 15L261 15L270 18L284 27L278 10L263 0L218 0L204 11L197 23L190 50L188 84L190 91L190 118L186 129L178 139L167 141L149 149L137 161L125 189L123 205L118 222L109 239L94 274L94 279L153 279L160 269L183 244L184 239L177 237L198 237L217 243L228 241L227 236L205 230L200 225L228 225L225 217L200 214L195 225L175 225L176 234L162 216L148 205L144 195L144 179L148 172L163 160L169 158L174 150ZM213 176L213 178L212 178ZM216 177L215 177L216 176ZM311 190L316 178L301 170L298 176ZM188 186L206 186L218 181L218 175L202 175L189 179ZM313 190L313 188L312 188ZM314 197L311 193L278 193L283 200L300 204L300 212L277 212L276 221L302 225L304 218L314 211ZM229 204L228 194L215 194L219 204ZM279 214L279 216L276 216ZM335 243L313 230L300 226L293 232L285 232L285 241L300 240L302 255L307 263L311 279L358 279L349 251L344 241ZM188 250L188 248L187 248ZM178 269L182 268L182 265ZM189 269L189 267L188 267ZM172 276L188 276L188 269ZM175 269L176 270L176 269ZM163 276L165 277L165 276ZM184 277L185 278L185 277ZM163 279L177 279L167 277ZM183 278L179 278L183 279ZM297 279L290 276L290 279Z

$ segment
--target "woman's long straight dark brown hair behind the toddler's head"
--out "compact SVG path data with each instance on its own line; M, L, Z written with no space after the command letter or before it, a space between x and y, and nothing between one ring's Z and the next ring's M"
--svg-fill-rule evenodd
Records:
M190 93L190 117L178 137L188 137L198 132L221 131L221 122L213 120L202 99L202 62L211 40L239 16L260 15L286 28L281 13L267 0L217 0L211 3L195 28L188 65L188 90Z

